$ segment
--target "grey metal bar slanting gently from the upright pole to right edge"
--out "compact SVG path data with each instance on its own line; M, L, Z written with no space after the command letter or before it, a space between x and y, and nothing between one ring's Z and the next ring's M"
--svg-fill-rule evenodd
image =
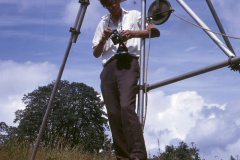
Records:
M203 74L203 73L207 73L207 72L219 69L219 68L226 67L226 66L228 66L232 63L239 63L239 62L240 62L240 56L234 57L231 60L222 61L222 62L213 64L213 65L210 65L210 66L192 71L192 72L185 73L185 74L180 75L180 76L176 76L176 77L173 77L173 78L170 78L170 79L158 82L158 83L151 84L151 85L149 85L147 90L150 91L150 90L155 89L155 88L166 86L166 85L171 84L171 83L175 83L175 82L187 79L187 78L191 78L191 77Z

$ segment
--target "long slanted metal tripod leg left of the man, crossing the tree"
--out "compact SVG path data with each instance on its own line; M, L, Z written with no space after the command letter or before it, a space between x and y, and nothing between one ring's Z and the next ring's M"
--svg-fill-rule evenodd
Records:
M89 0L79 0L79 3L81 3L81 6L80 6L79 11L78 11L78 15L77 15L77 18L76 18L76 21L75 21L75 24L74 24L74 28L70 28L70 32L72 32L71 37L69 39L68 46L67 46L65 55L63 57L62 65L61 65L60 70L58 72L57 80L54 84L54 88L53 88L50 100L48 102L47 110L45 112L43 122L42 122L42 125L41 125L41 129L39 131L39 134L38 134L38 137L37 137L37 140L36 140L36 144L35 144L34 149L33 149L31 160L35 159L37 149L38 149L38 146L40 144L44 129L45 129L46 124L47 124L47 119L48 119L48 116L49 116L51 108L52 108L53 100L55 98L57 88L58 88L59 82L61 80L62 73L63 73L64 67L65 67L65 64L67 62L67 58L68 58L72 43L73 42L75 43L77 41L77 36L80 34L80 27L81 27L81 24L82 24L87 6L90 4Z

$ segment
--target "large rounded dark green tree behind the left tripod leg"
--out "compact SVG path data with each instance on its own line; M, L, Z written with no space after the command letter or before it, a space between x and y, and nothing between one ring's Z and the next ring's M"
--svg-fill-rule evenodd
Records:
M37 137L53 87L54 82L24 95L22 101L26 108L15 112L14 122L19 122L21 131L18 133L27 141L33 142ZM81 145L90 152L102 149L108 124L99 101L99 94L92 87L61 81L41 139L42 145L54 147L56 139L61 138L71 147Z

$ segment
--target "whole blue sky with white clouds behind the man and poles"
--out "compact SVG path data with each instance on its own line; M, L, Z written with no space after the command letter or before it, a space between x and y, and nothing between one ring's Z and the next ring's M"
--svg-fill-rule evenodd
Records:
M140 11L140 1L136 2L127 0L121 6ZM147 8L152 2L148 0ZM169 2L176 14L193 22L177 1ZM218 31L205 0L185 2ZM83 82L101 93L101 58L93 57L91 42L108 12L98 0L90 3L62 79ZM240 1L212 3L227 34L240 37ZM23 95L56 79L78 8L77 0L0 0L0 121L16 126L14 112L24 109ZM205 32L173 14L157 27L161 36L151 40L149 84L227 60ZM230 41L239 55L239 40ZM150 91L144 131L148 152L157 154L159 139L162 151L165 145L183 140L194 142L207 160L239 155L239 80L239 73L226 67Z

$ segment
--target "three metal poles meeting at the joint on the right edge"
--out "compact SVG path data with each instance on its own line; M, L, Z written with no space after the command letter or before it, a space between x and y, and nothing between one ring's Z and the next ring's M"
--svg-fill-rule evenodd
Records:
M208 26L184 2L184 0L176 0L176 1L183 7L183 9L185 9L185 11L195 20L195 22L198 25L202 26L203 28L209 29ZM209 6L209 8L210 8L210 10L213 14L213 17L214 17L214 19L215 19L215 21L216 21L216 23L219 27L219 30L221 31L222 34L226 34L218 16L217 16L217 13L213 8L211 0L206 0L206 2L207 2L208 6ZM210 72L210 71L213 71L213 70L216 70L216 69L220 69L220 68L232 65L234 63L240 63L240 56L236 57L236 55L234 53L234 50L233 50L233 48L232 48L232 46L231 46L227 37L223 36L223 38L224 38L228 47L226 47L225 44L223 44L223 42L220 41L220 39L215 34L213 34L212 32L206 31L206 30L204 30L204 31L219 46L219 48L222 49L222 51L229 57L229 60L222 61L222 62L213 64L213 65L210 65L210 66L192 71L192 72L188 72L188 73L185 73L185 74L182 74L182 75L179 75L179 76L176 76L176 77L173 77L173 78L170 78L170 79L167 79L167 80L164 80L164 81L152 84L152 85L149 85L147 87L147 91L150 91L152 89L159 88L159 87L171 84L171 83L175 83L175 82L178 82L178 81L190 78L190 77L194 77L194 76L197 76L197 75L200 75L200 74L203 74L203 73L207 73L207 72Z

